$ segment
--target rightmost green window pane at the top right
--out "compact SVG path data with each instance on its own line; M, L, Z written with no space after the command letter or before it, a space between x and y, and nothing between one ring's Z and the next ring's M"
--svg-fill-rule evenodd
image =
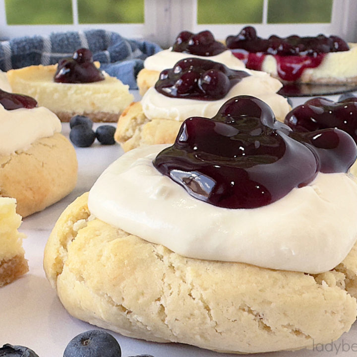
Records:
M268 23L331 22L333 0L269 0Z

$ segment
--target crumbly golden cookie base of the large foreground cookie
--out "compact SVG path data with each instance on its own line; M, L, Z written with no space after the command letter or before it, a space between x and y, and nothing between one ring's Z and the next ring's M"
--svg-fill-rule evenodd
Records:
M48 280L76 318L228 353L328 343L356 319L356 247L316 276L189 259L91 217L87 197L62 213L44 255Z

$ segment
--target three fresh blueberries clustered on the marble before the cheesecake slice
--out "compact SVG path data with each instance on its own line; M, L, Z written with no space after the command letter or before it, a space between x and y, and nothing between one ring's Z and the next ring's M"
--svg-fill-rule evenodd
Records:
M93 121L90 118L76 115L70 119L69 126L71 128L69 139L78 147L91 146L96 138L103 145L115 144L116 128L113 125L101 125L94 131Z

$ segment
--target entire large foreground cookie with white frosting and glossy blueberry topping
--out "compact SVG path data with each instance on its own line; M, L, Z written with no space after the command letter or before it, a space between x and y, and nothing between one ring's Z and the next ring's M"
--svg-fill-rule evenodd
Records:
M47 278L71 315L133 338L225 353L330 343L357 314L356 156L342 130L296 133L234 97L183 121L172 146L125 153L70 204Z

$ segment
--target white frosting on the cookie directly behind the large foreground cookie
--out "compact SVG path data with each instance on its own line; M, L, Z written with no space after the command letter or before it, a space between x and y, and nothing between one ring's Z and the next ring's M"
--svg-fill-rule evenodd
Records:
M141 99L143 112L146 118L151 120L183 121L195 116L212 118L227 100L238 95L251 95L267 103L275 117L283 121L291 107L286 98L276 93L282 87L281 82L265 72L249 71L248 73L251 75L244 77L233 86L223 99L214 101L167 97L151 87Z

